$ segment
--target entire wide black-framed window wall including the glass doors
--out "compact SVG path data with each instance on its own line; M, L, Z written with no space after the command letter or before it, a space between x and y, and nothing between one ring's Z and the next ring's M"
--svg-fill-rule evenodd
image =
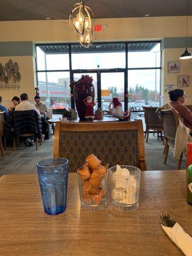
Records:
M93 77L95 102L108 109L118 97L127 109L159 106L160 42L36 45L36 72L40 96L47 106L74 108L70 81L82 74Z

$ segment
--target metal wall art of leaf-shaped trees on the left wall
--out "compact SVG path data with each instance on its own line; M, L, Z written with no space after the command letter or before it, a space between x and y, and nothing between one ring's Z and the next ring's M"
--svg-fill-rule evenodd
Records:
M0 90L19 90L20 72L17 62L10 59L3 67L0 63Z

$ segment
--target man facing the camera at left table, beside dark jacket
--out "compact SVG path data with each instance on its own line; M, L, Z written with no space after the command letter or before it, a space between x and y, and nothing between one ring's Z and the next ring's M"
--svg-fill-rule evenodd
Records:
M47 122L49 112L47 111L47 106L41 102L41 99L39 96L35 96L35 107L40 111L41 119L42 119L42 134L45 134L45 132L49 132L49 123Z

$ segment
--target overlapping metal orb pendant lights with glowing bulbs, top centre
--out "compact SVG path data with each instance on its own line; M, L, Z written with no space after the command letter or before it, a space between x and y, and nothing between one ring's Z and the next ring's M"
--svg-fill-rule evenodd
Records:
M69 16L70 28L77 33L77 39L83 47L88 48L94 39L93 23L94 14L93 11L81 1L74 4Z

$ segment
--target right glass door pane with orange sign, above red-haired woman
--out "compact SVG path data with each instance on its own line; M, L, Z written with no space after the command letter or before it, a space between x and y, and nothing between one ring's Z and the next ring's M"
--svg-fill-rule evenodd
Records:
M100 95L103 110L108 110L108 106L113 98L118 98L122 103L122 109L125 109L124 84L124 72L100 72Z

